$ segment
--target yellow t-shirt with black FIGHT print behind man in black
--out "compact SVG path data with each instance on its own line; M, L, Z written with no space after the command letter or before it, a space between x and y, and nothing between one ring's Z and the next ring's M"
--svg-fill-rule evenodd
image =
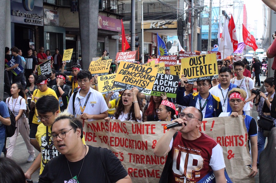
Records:
M48 128L48 143L47 143L47 134L46 134L46 129ZM40 150L41 150L41 163L40 163L40 172L39 174L41 174L43 172L43 169L45 167L45 165L48 163L48 161L50 161L50 149L52 149L52 154L53 154L53 158L58 156L60 154L60 152L57 151L57 149L54 146L54 142L53 144L51 144L51 126L44 126L43 124L38 125L37 127L37 133L35 135L37 142L39 143L40 146ZM82 137L82 142L85 145L85 140L84 137Z

